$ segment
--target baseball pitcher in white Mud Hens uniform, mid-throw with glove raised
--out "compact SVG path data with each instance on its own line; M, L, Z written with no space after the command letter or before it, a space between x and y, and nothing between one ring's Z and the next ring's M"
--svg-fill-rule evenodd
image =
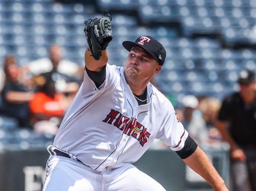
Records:
M84 32L84 80L48 147L43 191L166 191L132 165L154 139L176 151L215 191L227 191L170 101L149 82L164 64L162 44L146 35L123 42L128 57L117 67L108 63L111 17L85 21Z

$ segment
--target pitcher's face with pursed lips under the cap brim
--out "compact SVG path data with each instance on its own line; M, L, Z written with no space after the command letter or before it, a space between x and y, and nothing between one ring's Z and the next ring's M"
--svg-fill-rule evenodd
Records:
M134 46L125 61L125 78L139 81L150 81L154 74L161 70L161 66L143 48ZM138 82L139 82L138 81Z

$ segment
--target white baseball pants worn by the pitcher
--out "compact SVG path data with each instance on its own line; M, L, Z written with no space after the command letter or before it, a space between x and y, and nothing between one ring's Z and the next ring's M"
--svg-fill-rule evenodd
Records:
M81 162L50 156L43 191L166 191L132 164L95 171Z

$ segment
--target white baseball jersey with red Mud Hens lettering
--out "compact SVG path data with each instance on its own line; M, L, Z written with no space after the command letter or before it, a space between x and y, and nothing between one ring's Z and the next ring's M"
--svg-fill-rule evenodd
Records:
M53 145L96 171L105 171L137 161L155 138L179 151L187 137L160 91L148 83L147 104L138 105L124 68L107 64L99 88L85 72Z

